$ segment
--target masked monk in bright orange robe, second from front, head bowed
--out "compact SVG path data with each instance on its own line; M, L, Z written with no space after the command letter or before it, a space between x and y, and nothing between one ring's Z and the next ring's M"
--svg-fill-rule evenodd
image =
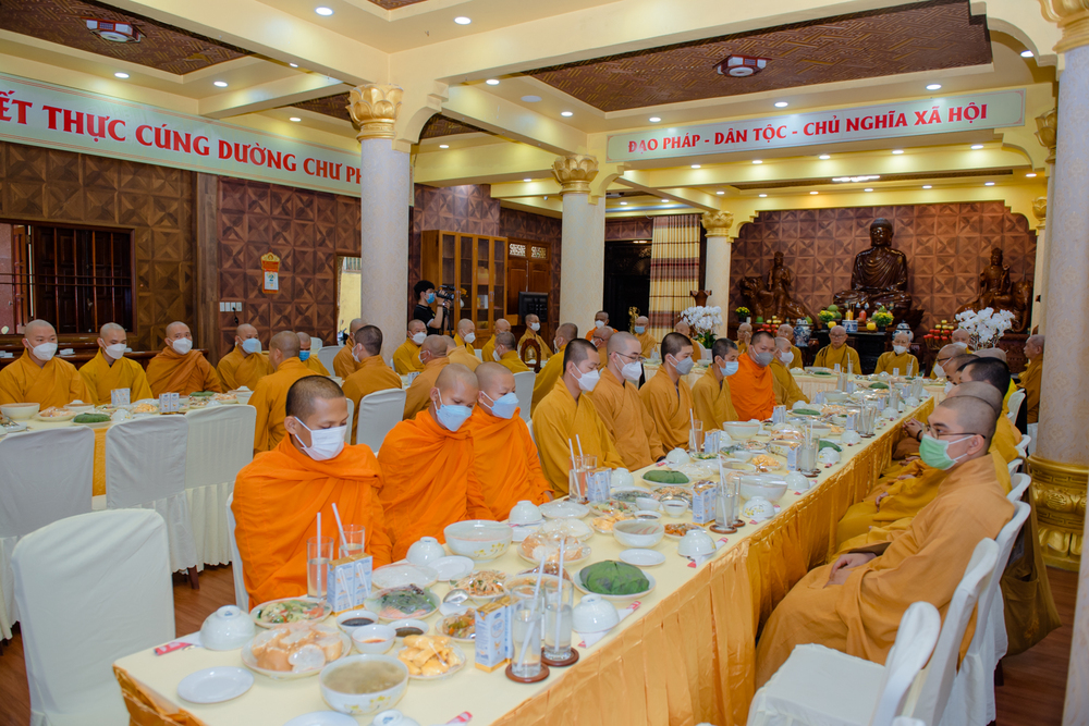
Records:
M428 336L425 352L432 337L441 342L440 335ZM445 360L444 347L442 353ZM445 542L443 529L455 521L497 519L485 502L473 436L464 426L477 394L473 371L457 364L443 366L428 389L427 407L393 427L382 442L378 463L386 481L380 496L394 562L421 537Z

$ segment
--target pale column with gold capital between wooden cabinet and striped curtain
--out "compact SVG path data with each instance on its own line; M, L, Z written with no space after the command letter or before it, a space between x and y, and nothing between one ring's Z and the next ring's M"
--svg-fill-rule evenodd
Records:
M560 320L573 322L579 334L601 309L605 278L605 202L592 200L590 182L598 160L580 153L558 157L552 174L563 198L560 244Z

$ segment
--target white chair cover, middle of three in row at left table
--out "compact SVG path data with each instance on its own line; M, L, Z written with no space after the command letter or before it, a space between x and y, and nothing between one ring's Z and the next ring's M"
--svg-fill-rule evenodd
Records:
M106 507L155 509L167 521L170 569L197 566L185 496L184 416L150 416L106 432Z

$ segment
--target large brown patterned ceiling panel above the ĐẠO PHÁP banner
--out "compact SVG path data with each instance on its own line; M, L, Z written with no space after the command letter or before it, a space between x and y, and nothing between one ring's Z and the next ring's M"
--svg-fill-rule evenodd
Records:
M731 54L769 59L720 75ZM960 0L852 13L528 72L602 111L858 81L991 62L986 19Z

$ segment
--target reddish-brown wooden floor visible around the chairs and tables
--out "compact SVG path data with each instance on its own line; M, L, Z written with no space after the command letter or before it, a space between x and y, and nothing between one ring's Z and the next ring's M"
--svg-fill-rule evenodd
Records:
M1049 569L1051 590L1063 620L1036 648L1003 660L1005 685L995 690L999 726L1050 726L1061 724L1066 692L1066 664L1070 654L1077 574ZM220 605L234 602L231 567L210 567L200 574L200 590L175 576L174 623L178 633L200 629L205 617ZM0 656L0 726L26 726L30 700L23 667L23 642L19 635Z

